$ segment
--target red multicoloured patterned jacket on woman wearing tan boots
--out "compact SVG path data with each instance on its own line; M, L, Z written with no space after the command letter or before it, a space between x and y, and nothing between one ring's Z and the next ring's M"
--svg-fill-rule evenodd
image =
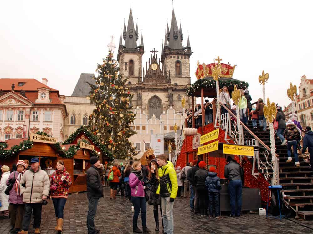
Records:
M63 178L62 178L63 176ZM51 197L64 197L67 198L69 187L72 185L72 179L65 167L62 171L56 170L52 173L50 178L50 185L56 184L57 189L51 191Z

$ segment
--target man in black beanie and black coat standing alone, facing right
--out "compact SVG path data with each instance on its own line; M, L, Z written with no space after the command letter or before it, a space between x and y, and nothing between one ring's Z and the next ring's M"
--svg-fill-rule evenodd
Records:
M88 198L88 214L87 214L87 228L88 234L99 233L95 229L95 216L97 212L98 201L103 197L103 187L101 177L98 171L100 161L98 157L90 158L91 167L87 170L87 198Z

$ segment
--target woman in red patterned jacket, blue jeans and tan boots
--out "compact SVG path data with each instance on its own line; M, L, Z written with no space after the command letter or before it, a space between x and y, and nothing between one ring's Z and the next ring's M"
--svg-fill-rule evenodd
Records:
M63 229L64 206L69 194L69 187L72 185L72 179L64 167L64 161L59 160L56 169L50 178L50 191L57 220L57 226L54 230L61 232Z

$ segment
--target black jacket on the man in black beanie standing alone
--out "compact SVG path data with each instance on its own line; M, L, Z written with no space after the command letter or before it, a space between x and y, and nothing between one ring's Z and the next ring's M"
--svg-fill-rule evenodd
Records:
M87 197L88 198L100 198L103 197L103 188L101 177L98 172L98 168L92 165L87 170Z

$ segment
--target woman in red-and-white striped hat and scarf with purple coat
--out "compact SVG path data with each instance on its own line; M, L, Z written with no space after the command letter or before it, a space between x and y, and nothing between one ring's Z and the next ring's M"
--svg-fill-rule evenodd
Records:
M19 160L16 166L17 171L13 171L6 181L7 185L14 183L9 195L9 212L11 216L10 233L17 233L21 230L24 214L23 195L20 191L19 182L25 172L26 163L23 160Z

